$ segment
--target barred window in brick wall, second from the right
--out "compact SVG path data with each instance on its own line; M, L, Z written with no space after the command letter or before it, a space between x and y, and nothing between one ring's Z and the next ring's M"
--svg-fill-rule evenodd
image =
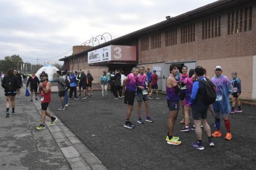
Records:
M218 16L207 20L203 20L202 39L220 36L220 19L221 17Z

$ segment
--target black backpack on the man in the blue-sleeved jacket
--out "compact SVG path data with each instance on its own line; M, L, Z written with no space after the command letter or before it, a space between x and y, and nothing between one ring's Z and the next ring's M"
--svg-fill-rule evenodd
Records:
M205 95L203 95L203 102L205 105L211 105L216 100L216 87L215 84L210 81L210 79L206 78L206 80L207 81L198 79L197 81L205 84Z

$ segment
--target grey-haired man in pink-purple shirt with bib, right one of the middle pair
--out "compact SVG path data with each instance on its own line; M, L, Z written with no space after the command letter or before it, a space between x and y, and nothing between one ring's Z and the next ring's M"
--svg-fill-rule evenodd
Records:
M146 119L145 121L152 123L153 120L149 116L149 107L148 107L148 93L147 93L147 86L146 86L146 78L147 75L144 74L145 67L140 66L140 73L137 75L137 99L138 99L138 120L137 123L142 124L141 110L142 110L142 100L145 103L146 108Z

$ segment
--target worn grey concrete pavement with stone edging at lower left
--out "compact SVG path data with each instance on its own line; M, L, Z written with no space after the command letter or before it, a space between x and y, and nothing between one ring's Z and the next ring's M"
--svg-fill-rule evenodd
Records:
M49 126L50 119L46 118L47 127L36 130L41 120L40 100L30 102L24 88L21 99L15 100L16 114L9 118L5 118L2 87L0 96L0 169L106 169L59 119Z

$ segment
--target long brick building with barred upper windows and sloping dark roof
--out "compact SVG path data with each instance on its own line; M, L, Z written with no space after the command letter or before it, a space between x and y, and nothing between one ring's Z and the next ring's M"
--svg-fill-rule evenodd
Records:
M242 79L242 98L256 99L255 18L256 1L216 1L95 47L79 46L60 60L68 70L88 69L95 77L103 70L122 68L129 73L135 65L143 65L157 71L163 91L171 63L189 69L201 65L210 77L214 67L221 65L224 75L231 78L236 71ZM88 63L90 52L110 45L135 46L135 61Z

